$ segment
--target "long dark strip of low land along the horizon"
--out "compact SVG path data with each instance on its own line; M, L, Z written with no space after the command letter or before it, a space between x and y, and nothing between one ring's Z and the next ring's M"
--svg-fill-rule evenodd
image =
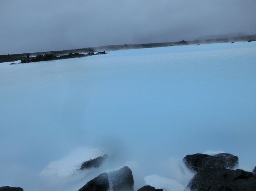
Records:
M239 41L248 41L250 39L256 39L256 35L237 36L232 38L215 38L215 39L207 39L207 40L187 40L187 41L182 40L179 42L106 45L106 46L87 47L87 48L70 49L70 50L62 50L62 51L46 51L46 52L37 52L37 53L0 55L0 63L24 60L27 58L27 55L29 55L30 57L37 56L37 55L46 55L46 54L67 55L69 53L89 53L89 52L97 52L97 51L115 51L115 50L123 50L123 49L167 47L167 46L173 46L173 45L209 44L209 43L221 43L221 42L232 42L232 41L239 42Z

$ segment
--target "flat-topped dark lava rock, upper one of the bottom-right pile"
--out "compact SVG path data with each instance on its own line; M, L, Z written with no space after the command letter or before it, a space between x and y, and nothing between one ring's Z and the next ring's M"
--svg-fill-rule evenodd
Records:
M198 172L204 168L232 168L238 164L238 157L228 153L194 154L185 156L183 161L190 170Z

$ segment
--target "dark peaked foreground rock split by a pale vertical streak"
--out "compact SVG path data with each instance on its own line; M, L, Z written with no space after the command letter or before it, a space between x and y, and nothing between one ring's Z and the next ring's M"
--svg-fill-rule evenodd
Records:
M133 191L134 178L129 167L125 166L111 173L102 173L90 180L79 191Z

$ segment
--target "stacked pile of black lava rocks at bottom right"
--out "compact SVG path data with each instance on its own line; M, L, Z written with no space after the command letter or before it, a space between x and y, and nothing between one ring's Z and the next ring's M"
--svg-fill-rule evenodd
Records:
M214 156L195 154L184 159L186 166L197 174L188 187L198 191L256 191L256 176L241 169L232 170L238 157L220 153Z

